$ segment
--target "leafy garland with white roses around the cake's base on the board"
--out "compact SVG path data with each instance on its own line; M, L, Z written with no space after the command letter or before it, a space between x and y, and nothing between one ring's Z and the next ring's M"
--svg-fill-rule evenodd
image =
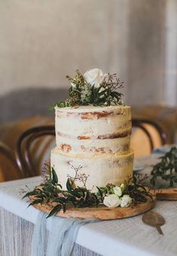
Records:
M133 207L137 202L153 200L150 191L139 184L136 177L130 177L120 187L114 184L97 187L97 192L93 193L91 190L87 190L87 176L78 174L82 167L73 168L75 169L75 177L68 177L67 190L63 190L55 170L47 165L48 175L44 176L44 182L26 193L23 198L32 196L32 202L29 205L50 203L52 209L47 217L53 216L61 210L65 212L71 205L74 208L98 207L98 205L105 205L109 208ZM82 186L75 187L75 180L79 180Z

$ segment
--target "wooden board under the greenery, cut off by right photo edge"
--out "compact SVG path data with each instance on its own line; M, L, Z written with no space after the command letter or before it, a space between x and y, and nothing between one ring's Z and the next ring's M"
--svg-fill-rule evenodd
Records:
M177 200L177 188L151 190L151 193L155 193L157 200Z

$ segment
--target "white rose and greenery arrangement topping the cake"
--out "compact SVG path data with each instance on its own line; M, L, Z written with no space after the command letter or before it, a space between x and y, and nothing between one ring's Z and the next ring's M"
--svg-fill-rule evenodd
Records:
M90 69L84 75L77 69L75 78L66 76L71 86L69 98L63 102L55 103L54 107L66 106L110 106L122 105L123 94L118 89L123 88L124 82L116 74L103 74L101 69Z

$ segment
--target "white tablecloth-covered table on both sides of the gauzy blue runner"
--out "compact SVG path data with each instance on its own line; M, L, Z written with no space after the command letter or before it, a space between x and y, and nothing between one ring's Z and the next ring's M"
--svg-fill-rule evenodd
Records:
M0 184L0 255L28 256L38 210L26 208L20 190L41 183L41 177ZM27 186L27 187L26 187ZM79 256L170 256L177 254L177 202L157 202L157 212L166 219L164 236L142 223L142 215L117 221L87 224L78 231L73 254Z

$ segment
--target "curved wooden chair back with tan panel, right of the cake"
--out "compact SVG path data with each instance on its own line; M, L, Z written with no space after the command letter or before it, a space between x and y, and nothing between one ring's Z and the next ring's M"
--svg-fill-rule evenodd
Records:
M157 122L148 119L133 119L132 125L136 128L131 137L135 156L151 153L155 147L160 147L168 141L166 131Z

